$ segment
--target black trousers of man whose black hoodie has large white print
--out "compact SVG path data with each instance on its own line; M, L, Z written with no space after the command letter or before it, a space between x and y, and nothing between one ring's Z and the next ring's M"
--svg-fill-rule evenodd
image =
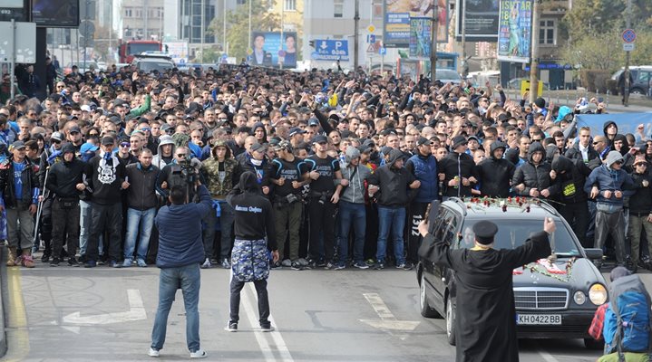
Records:
M100 235L106 230L107 237L104 238L104 254L109 254L112 261L122 260L122 203L113 205L101 205L92 203L91 213L91 235L88 238L86 260L97 262L99 258L98 247Z

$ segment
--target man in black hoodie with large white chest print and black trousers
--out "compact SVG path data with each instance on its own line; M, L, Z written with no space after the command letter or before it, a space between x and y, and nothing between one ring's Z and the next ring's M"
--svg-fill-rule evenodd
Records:
M102 138L102 153L92 157L88 163L86 179L92 190L91 235L86 249L84 267L93 268L99 259L100 235L104 238L104 252L109 252L113 268L122 267L122 189L129 187L124 180L124 166L112 154L113 138Z

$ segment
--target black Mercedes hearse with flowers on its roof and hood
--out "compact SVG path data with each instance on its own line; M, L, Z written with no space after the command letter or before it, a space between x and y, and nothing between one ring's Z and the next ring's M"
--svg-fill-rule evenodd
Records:
M544 217L557 224L550 236L551 258L530 263L513 271L513 291L519 338L583 338L587 348L600 343L589 337L589 326L598 307L608 300L602 274L592 259L602 258L600 249L583 249L569 224L554 207L540 203L516 205L505 201L483 205L452 198L439 205L431 220L435 239L452 249L471 248L473 224L491 220L498 224L496 249L513 249L525 242L531 232L541 230ZM514 204L514 205L512 205ZM455 271L423 258L417 263L421 314L426 318L446 319L446 334L455 344Z

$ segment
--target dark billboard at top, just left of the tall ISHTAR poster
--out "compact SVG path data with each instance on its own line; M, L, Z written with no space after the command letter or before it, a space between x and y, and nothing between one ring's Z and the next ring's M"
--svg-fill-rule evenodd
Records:
M457 6L457 26L455 37L462 42L462 7L466 6L466 41L497 42L499 0L462 0Z

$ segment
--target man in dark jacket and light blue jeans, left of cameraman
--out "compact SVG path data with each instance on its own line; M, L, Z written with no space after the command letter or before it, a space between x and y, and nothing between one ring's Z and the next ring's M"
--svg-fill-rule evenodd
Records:
M147 248L150 245L151 228L154 226L154 215L159 205L156 195L156 176L159 167L151 164L153 155L150 148L143 148L138 157L138 163L125 168L125 180L129 183L127 189L127 234L124 241L123 267L130 267L133 262L133 251L138 238L136 262L138 266L147 266ZM139 227L140 224L140 227Z

